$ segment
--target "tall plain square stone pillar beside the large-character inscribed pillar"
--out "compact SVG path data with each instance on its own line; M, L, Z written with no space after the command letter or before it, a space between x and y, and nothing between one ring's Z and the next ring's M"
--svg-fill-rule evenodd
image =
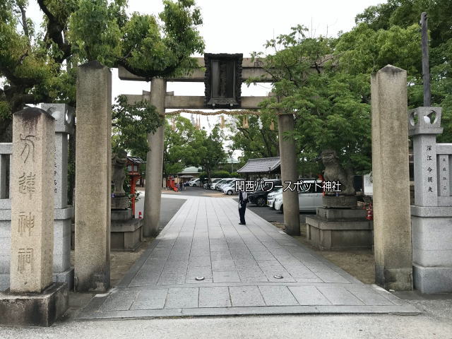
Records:
M97 61L78 67L75 288L110 287L112 74Z

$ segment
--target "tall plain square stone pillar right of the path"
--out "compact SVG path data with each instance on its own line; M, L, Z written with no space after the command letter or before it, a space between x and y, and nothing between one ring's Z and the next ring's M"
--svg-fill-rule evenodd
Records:
M412 290L407 72L372 75L371 105L376 283Z

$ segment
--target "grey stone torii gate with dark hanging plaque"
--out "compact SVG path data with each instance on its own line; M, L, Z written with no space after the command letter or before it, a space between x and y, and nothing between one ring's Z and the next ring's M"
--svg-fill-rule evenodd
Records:
M232 72L227 69L228 60L236 58L235 66L238 72ZM261 67L258 61L252 61L251 58L242 58L242 54L206 54L206 57L197 58L200 69L193 73L179 78L152 78L150 93L143 95L126 95L128 101L138 102L143 99L149 100L157 108L157 112L165 115L165 109L258 109L258 104L266 97L241 97L240 86L249 78L258 78L259 82L272 82L272 79ZM221 64L225 62L225 64ZM215 64L217 63L217 64ZM206 72L201 69L206 67ZM232 85L235 89L233 96L237 100L218 99L215 103L213 91L215 83L218 80L218 73L221 67L225 73L232 74L232 84L223 83L223 86ZM130 73L123 67L118 69L119 78L127 81L147 81L140 76ZM167 93L166 83L170 82L203 82L206 83L206 95L203 96L179 96ZM221 86L221 85L219 85ZM214 102L213 102L214 101ZM146 187L144 201L144 225L143 234L146 237L154 236L158 232L160 220L160 201L162 188L162 167L163 167L163 146L164 129L160 126L155 133L148 134L148 145L150 150L147 155L146 166ZM297 164L295 157L295 142L292 138L285 137L285 132L293 131L293 114L278 115L278 134L280 143L281 158L281 177L283 182L295 182L298 179ZM285 184L287 186L287 184ZM299 235L299 206L298 195L296 191L286 190L283 192L284 198L284 223L287 234Z

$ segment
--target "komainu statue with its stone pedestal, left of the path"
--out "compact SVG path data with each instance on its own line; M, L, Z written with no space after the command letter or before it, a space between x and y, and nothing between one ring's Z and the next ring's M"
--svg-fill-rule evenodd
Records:
M112 225L110 227L110 246L112 251L135 251L143 241L143 219L132 218L129 208L129 197L125 194L123 185L126 174L127 153L120 150L112 155Z

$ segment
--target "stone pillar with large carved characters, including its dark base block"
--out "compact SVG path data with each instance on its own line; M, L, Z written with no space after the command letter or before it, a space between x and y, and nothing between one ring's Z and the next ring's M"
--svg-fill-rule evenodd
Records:
M67 285L52 281L54 131L42 109L13 114L10 290L0 295L0 323L48 326L67 308Z

